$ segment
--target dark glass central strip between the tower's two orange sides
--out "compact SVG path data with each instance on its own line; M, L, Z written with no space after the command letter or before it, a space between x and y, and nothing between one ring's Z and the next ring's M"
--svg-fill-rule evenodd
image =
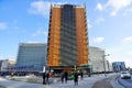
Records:
M75 9L72 4L62 6L61 63L74 66L77 59Z

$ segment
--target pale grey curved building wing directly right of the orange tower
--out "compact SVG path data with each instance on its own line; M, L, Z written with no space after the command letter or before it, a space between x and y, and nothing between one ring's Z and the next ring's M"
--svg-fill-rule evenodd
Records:
M105 66L106 66L106 72L109 72L110 65L107 59L105 59L105 66L103 66L103 58L102 58L103 55L105 55L105 51L102 48L89 46L89 62L92 64L94 73L105 72Z

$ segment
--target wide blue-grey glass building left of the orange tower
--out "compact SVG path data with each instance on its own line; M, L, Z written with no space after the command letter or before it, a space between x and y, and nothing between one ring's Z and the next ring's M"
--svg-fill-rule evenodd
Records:
M20 43L15 69L42 72L46 65L46 50L44 43Z

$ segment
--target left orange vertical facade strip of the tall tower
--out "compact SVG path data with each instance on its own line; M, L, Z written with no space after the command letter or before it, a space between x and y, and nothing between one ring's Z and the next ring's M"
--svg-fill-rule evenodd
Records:
M59 66L59 40L61 40L61 8L51 9L47 65Z

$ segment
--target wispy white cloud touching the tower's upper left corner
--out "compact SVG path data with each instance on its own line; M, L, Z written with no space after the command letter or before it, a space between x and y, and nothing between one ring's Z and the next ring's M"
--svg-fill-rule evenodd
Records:
M51 2L48 1L34 1L31 3L30 9L28 10L31 14L40 14L43 16L48 15Z

